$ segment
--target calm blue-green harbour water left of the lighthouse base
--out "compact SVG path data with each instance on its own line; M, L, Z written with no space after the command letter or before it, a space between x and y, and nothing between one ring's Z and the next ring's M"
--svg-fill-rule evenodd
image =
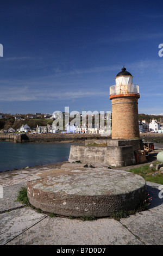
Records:
M0 172L67 161L70 143L0 142Z

